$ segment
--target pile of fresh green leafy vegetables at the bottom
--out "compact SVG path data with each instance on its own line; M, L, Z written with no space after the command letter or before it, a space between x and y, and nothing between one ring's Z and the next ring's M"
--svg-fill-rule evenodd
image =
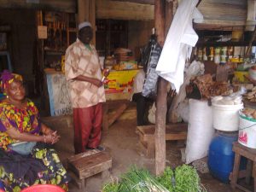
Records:
M132 166L119 181L105 184L102 192L206 192L202 189L200 177L192 166L177 166L172 170L167 166L165 172L154 177L145 169Z

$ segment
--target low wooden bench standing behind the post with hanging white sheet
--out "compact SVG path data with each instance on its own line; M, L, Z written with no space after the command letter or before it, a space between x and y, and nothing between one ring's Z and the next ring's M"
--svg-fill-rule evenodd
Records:
M154 157L154 130L155 125L137 126L140 146L147 157ZM188 124L178 123L166 125L166 141L186 140Z

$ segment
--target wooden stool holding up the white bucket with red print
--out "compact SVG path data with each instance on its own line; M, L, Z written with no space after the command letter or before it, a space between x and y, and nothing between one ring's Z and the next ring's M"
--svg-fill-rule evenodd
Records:
M241 177L246 177L246 183L250 183L251 176L254 177L253 188L254 192L256 192L256 149L247 148L246 146L241 145L240 143L233 143L233 151L235 152L235 162L233 167L233 172L230 173L231 187L232 189L241 189L246 192L250 192L250 190L241 186L237 183L237 179ZM247 170L239 171L241 156L247 158ZM252 172L253 166L253 172Z

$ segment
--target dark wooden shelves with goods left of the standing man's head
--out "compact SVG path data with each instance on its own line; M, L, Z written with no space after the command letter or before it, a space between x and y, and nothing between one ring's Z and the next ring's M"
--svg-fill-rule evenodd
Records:
M67 47L77 38L75 14L61 12L42 12L42 26L47 26L47 38L44 39L44 68L59 67L61 56ZM59 69L59 68L58 68Z

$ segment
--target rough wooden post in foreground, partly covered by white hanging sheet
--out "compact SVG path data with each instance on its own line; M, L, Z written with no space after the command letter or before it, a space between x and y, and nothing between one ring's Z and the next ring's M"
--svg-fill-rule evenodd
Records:
M165 42L165 2L154 1L154 26L158 42ZM160 78L158 81L155 116L155 174L160 175L166 168L166 112L167 112L167 82Z

